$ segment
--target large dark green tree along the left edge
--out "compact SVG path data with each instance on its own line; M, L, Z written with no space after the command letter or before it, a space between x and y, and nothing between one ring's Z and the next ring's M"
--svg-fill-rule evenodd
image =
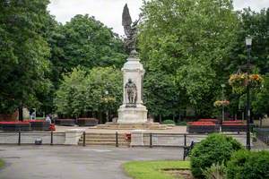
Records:
M47 78L50 52L44 38L48 3L0 2L0 113L39 106L38 94L46 93L51 85Z

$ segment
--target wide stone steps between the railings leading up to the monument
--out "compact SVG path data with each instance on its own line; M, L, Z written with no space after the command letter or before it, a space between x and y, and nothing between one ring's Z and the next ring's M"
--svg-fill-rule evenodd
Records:
M117 140L116 140L117 136ZM86 146L91 145L108 145L116 146L118 143L119 147L130 146L130 141L126 140L125 133L100 133L100 132L86 132L85 134L85 144ZM83 135L79 140L79 145L83 145Z

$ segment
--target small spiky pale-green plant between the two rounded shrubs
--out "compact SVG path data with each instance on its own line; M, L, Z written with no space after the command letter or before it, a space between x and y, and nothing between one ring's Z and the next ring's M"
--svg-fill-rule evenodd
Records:
M226 178L226 166L223 162L221 164L213 164L203 170L203 174L206 179L224 179Z

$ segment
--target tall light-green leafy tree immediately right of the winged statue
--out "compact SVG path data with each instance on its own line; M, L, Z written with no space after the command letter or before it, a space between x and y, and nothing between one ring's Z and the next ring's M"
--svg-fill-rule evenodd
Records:
M222 63L235 45L238 27L230 0L144 2L138 42L148 72L145 81L153 73L168 75L175 89L187 97L177 103L187 101L200 109L197 113L208 115L204 111L213 108L215 90L221 91L217 86L226 81Z

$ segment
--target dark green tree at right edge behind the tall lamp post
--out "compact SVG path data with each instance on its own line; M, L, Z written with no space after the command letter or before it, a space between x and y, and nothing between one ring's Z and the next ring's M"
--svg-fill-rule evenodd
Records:
M239 32L235 48L233 49L230 59L227 62L228 71L235 73L238 71L246 72L247 52L245 38L250 35L253 38L251 49L251 67L252 72L261 73L265 78L265 88L263 90L253 90L251 94L251 106L255 115L269 114L269 104L265 98L268 97L268 72L269 72L269 8L263 9L259 13L252 11L250 8L239 12ZM237 98L230 95L231 102L244 108L246 106L246 95Z

